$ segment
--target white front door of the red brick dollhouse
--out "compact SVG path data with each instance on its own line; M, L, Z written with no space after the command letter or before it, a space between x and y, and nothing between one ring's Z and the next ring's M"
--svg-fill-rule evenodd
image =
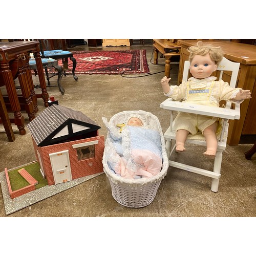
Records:
M69 151L49 154L55 184L72 180Z

